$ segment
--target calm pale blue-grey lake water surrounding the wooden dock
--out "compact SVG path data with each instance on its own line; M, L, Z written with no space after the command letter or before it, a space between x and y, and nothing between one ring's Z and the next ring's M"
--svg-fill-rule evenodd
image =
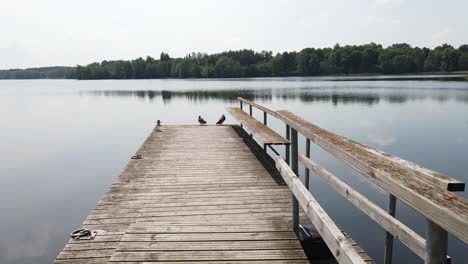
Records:
M468 82L373 78L0 81L0 263L51 263L156 120L195 124L201 114L213 123L237 96L468 181ZM284 134L279 121L269 124ZM320 148L312 157L387 207L363 176ZM311 190L382 262L383 229L317 176ZM397 217L424 235L424 218L401 202ZM394 253L394 263L422 263L399 242ZM468 246L451 237L449 255L466 263Z

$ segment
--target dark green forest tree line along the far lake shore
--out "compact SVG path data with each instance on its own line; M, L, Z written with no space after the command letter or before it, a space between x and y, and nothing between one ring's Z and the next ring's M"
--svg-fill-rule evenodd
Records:
M36 68L47 69L47 68ZM18 71L18 70L8 70ZM0 78L13 76L0 71ZM16 77L41 76L72 79L153 79L153 78L240 78L274 76L316 76L341 74L407 74L468 71L468 45L455 48L444 44L434 49L411 47L406 43L382 47L375 43L333 48L305 48L299 52L273 54L271 51L227 51L208 55L191 53L171 58L161 53L134 60L95 62L76 68L35 69L16 72Z

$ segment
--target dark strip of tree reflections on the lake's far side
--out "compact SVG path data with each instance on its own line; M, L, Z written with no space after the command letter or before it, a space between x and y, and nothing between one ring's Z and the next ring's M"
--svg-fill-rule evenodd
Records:
M401 91L400 91L401 92ZM390 93L388 91L377 92L343 92L343 91L322 91L321 89L259 89L259 90L98 90L86 91L84 94L93 96L106 97L135 97L139 99L153 101L161 98L163 103L169 104L172 99L185 99L190 102L204 103L209 100L219 100L223 102L233 103L238 97L243 97L248 100L261 100L262 102L271 102L272 99L280 99L283 101L299 100L303 103L332 103L337 106L340 104L361 104L375 105L381 101L389 104L404 104L408 101L415 100L432 100L438 103L444 103L448 100L457 100L468 103L468 95L460 96L460 91L455 94L445 91L446 94L430 94L416 93ZM453 91L451 91L453 92ZM82 93L83 95L83 93Z

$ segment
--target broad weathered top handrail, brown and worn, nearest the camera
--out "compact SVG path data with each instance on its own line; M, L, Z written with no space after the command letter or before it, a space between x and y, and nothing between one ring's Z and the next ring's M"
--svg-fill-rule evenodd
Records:
M468 201L396 166L347 138L326 131L289 111L279 119L342 160L385 191L417 210L455 237L468 243Z

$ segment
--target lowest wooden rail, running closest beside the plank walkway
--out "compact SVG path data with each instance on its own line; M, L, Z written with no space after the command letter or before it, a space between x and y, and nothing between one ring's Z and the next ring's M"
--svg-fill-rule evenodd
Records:
M289 189L299 201L299 205L309 217L320 236L340 264L366 263L353 248L333 220L323 210L312 194L305 188L300 179L288 164L280 157L276 157L276 168L288 184Z

